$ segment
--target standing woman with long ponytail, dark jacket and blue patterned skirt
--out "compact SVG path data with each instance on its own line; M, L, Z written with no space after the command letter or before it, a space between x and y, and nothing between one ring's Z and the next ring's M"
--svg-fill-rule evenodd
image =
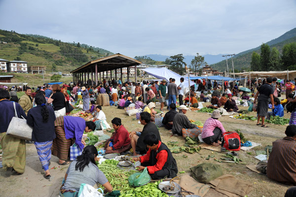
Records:
M27 124L33 127L32 141L37 149L37 154L42 168L45 170L44 178L50 178L49 161L51 158L52 141L56 137L54 121L56 119L53 108L47 106L42 93L35 96L36 107L29 110Z

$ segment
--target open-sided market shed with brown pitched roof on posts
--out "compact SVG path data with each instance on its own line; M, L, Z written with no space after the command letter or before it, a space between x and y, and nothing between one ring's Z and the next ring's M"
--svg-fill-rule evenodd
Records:
M101 76L103 75L104 80L105 73L108 75L108 71L110 71L111 79L112 70L115 70L114 78L117 80L117 72L119 71L122 80L122 68L135 66L135 70L137 70L137 65L140 64L142 64L142 62L117 53L111 56L90 61L85 65L72 70L71 73L73 73L74 83L81 82L82 84L86 84L89 79L93 81L94 77L95 85L98 85L98 74L99 80L101 81ZM127 80L129 81L129 69L127 69ZM135 74L135 81L137 81L137 74Z

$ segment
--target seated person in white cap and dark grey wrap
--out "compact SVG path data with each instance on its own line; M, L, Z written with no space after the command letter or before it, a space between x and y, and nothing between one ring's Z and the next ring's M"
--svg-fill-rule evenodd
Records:
M173 128L172 128L173 134L182 135L182 130L187 130L187 129L193 129L193 130L196 130L196 132L197 131L199 132L199 130L196 128L196 125L190 123L189 119L185 115L188 109L189 108L187 108L185 105L180 105L179 113L175 115L174 121L173 121ZM195 131L191 131L191 132L195 132Z

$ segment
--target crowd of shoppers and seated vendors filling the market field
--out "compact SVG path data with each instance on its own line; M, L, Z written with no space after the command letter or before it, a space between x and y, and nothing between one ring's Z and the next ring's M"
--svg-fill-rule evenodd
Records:
M0 119L3 169L12 170L18 174L25 171L25 140L5 134L12 117L17 114L18 117L25 118L27 124L33 128L32 142L36 146L45 179L51 178L48 167L51 155L59 158L60 165L67 165L70 164L69 149L73 143L83 150L81 155L70 164L60 189L61 194L64 196L73 195L79 191L81 183L94 185L96 182L103 185L105 191L111 192L111 183L96 167L97 149L94 146L86 146L83 139L84 132L100 130L102 121L106 120L102 107L96 105L95 101L99 94L107 94L112 105L119 109L128 107L140 109L139 122L144 127L142 131L129 132L123 126L121 119L114 117L111 120L114 133L107 140L104 147L105 153L122 154L131 150L134 156L141 155L133 158L133 161L141 162L138 170L147 167L148 173L153 179L175 177L178 173L176 160L169 148L161 141L158 128L154 124L156 110L158 110L156 109L156 100L160 103L159 111L161 113L164 112L165 106L169 110L162 119L162 124L167 130L171 130L175 135L183 135L187 132L201 134L205 143L220 146L225 129L218 120L221 115L220 110L217 109L224 108L227 112L237 112L239 109L233 97L249 100L251 96L246 91L240 90L239 81L229 84L227 81L224 84L214 81L212 86L211 81L196 80L196 84L189 88L190 96L185 91L184 78L180 79L178 86L175 82L174 78L170 78L168 82L162 80L160 83L159 81L123 83L121 79L118 81L113 79L99 82L97 86L92 86L91 81L84 85L74 84L72 87L71 84L63 84L62 87L58 84L52 86L44 84L42 87L37 87L36 90L25 87L25 94L21 98L17 97L15 87L0 89L0 107L3 111L2 114L5 114ZM265 117L269 119L272 116L284 116L283 100L278 98L282 88L276 78L268 77L263 81L261 79L251 80L248 83L250 84L248 84L251 90L250 94L254 96L254 104L257 104L258 126L267 127L264 123ZM208 92L212 87L213 92ZM224 92L222 92L223 87ZM292 93L294 90L293 84L287 81L286 99L289 100L285 104L296 103L295 93ZM196 91L200 92L198 97ZM212 94L209 97L209 94L205 93ZM177 99L179 99L179 107L176 105ZM204 123L201 132L196 125L189 121L186 112L189 110L188 107L198 106L196 105L198 102L208 99L210 104L206 107L215 110ZM71 101L82 101L82 109L93 115L93 121L68 116L70 112L67 111L67 105L72 105ZM269 104L271 104L272 111L268 112ZM270 166L267 167L269 178L294 185L296 185L296 172L293 169L294 165L289 161L295 161L293 156L296 151L295 125L296 108L291 114L290 126L285 132L287 137L273 142L273 151L269 157ZM290 158L289 161L285 159L287 157Z

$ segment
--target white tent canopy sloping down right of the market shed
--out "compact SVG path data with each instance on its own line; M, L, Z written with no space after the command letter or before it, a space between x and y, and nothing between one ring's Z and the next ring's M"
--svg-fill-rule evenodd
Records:
M177 74L176 72L173 72L172 70L169 70L167 68L142 68L143 71L147 72L148 74L158 78L158 79L165 79L169 81L170 78L176 79L175 84L177 86L180 85L180 79L183 77L180 74ZM188 79L184 78L184 85L185 87L188 87ZM190 86L194 85L195 83L190 81Z

